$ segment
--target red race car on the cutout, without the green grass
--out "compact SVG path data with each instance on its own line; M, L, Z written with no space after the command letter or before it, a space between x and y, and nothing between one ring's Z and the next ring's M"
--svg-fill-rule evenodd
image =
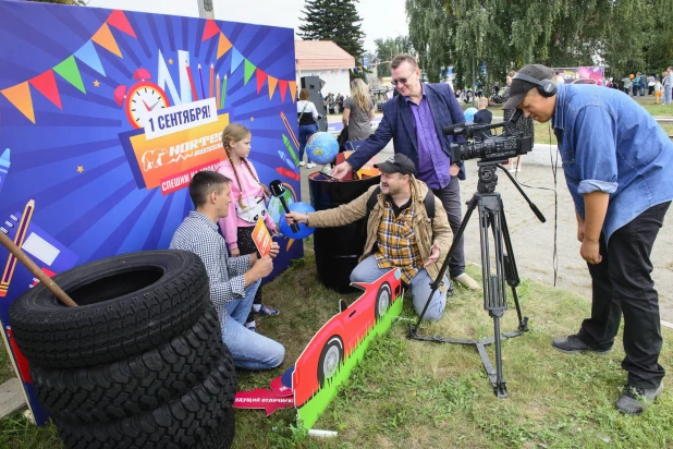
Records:
M353 286L365 292L351 305L340 301L341 312L318 330L295 364L292 386L297 408L337 374L402 293L399 269L391 269L371 283Z

